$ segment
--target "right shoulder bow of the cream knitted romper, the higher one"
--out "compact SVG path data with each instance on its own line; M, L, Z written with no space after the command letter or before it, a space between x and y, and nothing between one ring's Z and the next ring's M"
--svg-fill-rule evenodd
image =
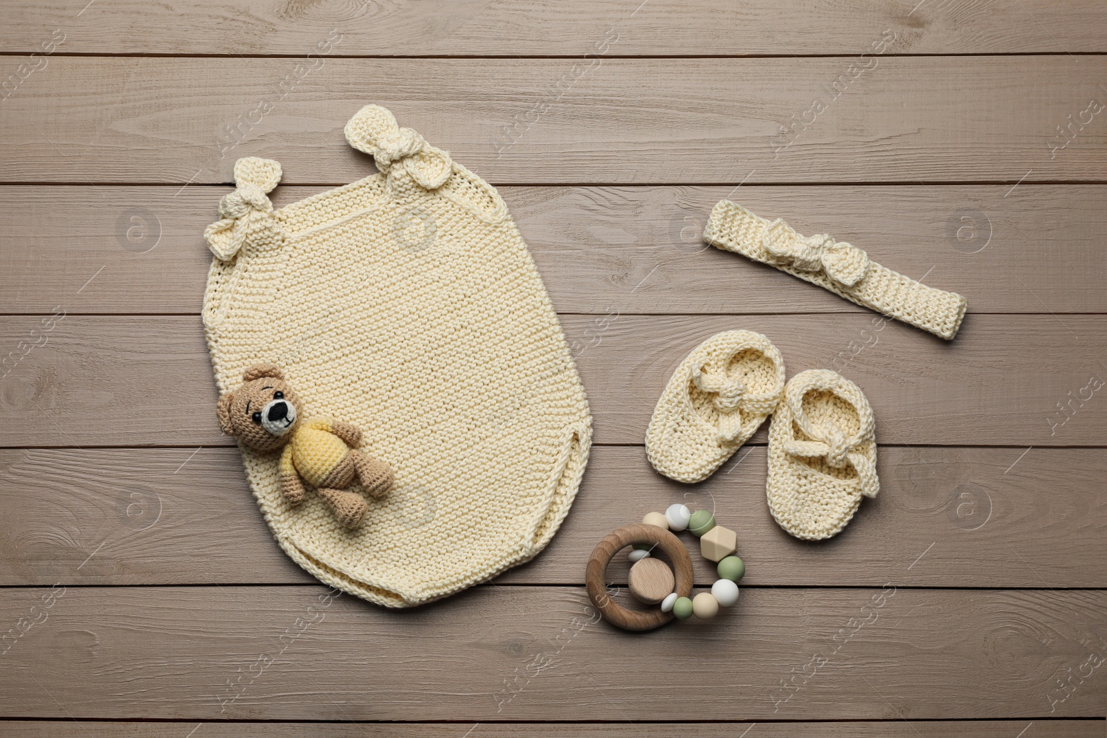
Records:
M396 167L424 189L442 187L454 171L449 153L435 148L411 128L401 128L395 116L380 105L366 105L345 127L346 141L373 155L376 168L389 175Z

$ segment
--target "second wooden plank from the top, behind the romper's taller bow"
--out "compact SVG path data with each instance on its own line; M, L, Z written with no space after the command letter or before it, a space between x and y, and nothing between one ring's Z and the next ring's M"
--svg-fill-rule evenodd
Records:
M4 183L180 186L228 183L255 155L286 184L345 183L371 165L342 126L377 102L497 185L1099 181L1107 128L1084 111L1107 58L1074 59L320 58L308 73L294 59L54 56L0 106L0 166ZM1058 149L1069 115L1089 122ZM794 119L809 124L782 138Z

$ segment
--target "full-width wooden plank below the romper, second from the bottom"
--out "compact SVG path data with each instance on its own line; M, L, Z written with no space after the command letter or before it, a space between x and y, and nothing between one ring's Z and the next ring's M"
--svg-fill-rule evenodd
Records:
M1107 651L1107 592L890 582L746 588L726 619L639 634L596 622L582 588L475 588L402 612L321 585L68 588L52 606L41 589L7 589L0 622L41 622L4 654L0 713L484 723L1107 710L1107 669L1086 666ZM665 668L652 667L658 651ZM807 678L789 698L793 675Z

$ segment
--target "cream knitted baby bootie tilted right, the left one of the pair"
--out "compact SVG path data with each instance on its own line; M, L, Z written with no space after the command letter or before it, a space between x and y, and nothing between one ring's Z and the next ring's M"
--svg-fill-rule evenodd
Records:
M645 453L676 481L706 479L776 409L784 358L753 331L717 333L681 362L645 432Z

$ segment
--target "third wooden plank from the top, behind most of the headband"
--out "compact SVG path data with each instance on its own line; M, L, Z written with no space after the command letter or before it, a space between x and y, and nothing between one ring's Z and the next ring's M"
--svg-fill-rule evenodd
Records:
M280 206L319 187L278 187ZM199 311L215 187L0 187L0 312ZM702 240L731 196L804 233L969 298L973 313L1107 312L1095 185L503 187L555 306L570 313L857 312ZM1044 245L1048 245L1045 247ZM95 274L92 282L85 283ZM82 289L83 288L83 289ZM80 293L77 293L80 290Z

